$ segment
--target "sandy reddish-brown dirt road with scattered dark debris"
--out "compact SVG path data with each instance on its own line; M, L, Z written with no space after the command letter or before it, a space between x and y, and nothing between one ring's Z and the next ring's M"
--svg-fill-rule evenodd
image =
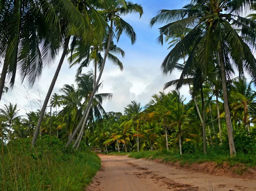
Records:
M209 182L213 191L256 191L256 180L195 173L127 156L100 157L102 170L87 191L209 191Z

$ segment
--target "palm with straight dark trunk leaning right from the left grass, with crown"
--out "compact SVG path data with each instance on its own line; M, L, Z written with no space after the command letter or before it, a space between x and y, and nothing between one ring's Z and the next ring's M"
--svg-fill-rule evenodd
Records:
M71 1L70 1L70 3L71 3ZM52 90L55 86L56 80L58 78L58 74L60 72L61 66L62 66L64 59L68 52L68 47L69 47L71 37L73 37L72 44L74 44L76 42L77 37L81 38L81 40L83 42L87 42L88 39L90 39L90 37L92 37L92 35L93 35L93 32L92 32L93 29L98 30L98 34L95 35L97 37L100 36L99 34L102 34L102 36L103 36L104 31L105 31L105 28L103 27L103 26L105 26L104 20L101 19L101 16L98 14L98 12L93 8L93 6L90 3L88 3L85 0L77 1L74 3L75 4L71 3L69 5L70 7L73 8L73 9L71 9L72 12L71 13L69 12L69 13L75 14L76 19L77 19L77 16L79 15L80 21L75 20L75 22L73 22L73 20L72 20L73 16L69 17L69 15L62 15L62 14L59 15L60 17L62 16L63 17L62 19L65 21L65 22L62 22L62 23L64 23L63 25L60 25L61 29L62 29L62 31L61 31L61 37L62 37L61 45L62 46L59 48L63 48L63 52L61 55L61 59L58 63L58 67L57 67L55 74L52 78L52 82L49 86L49 90L45 97L43 107L41 109L41 114L38 119L38 124L35 128L35 133L34 133L34 136L32 139L32 146L35 146L35 142L36 142L36 139L37 139L37 136L39 133L40 125L43 121L44 113L47 108L47 104L49 102L49 99L52 94ZM99 38L102 38L102 37L99 37Z

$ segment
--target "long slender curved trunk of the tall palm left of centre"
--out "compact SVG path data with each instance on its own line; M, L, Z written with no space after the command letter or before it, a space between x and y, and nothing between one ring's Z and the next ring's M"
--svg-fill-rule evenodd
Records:
M90 99L89 99L89 101L88 101L88 103L87 103L87 106L86 106L86 108L85 108L85 110L84 110L84 114L83 114L83 117L81 118L81 120L80 120L80 122L79 122L79 124L76 126L76 129L75 129L75 134L79 131L79 128L80 128L80 126L81 126L81 124L83 123L83 121L85 120L85 121L87 121L87 119L88 119L88 116L89 116L89 112L90 112L90 109L89 109L89 107L90 107L90 105L92 104L92 102L93 102L93 97L94 97L94 94L95 94L95 92L96 92L96 87L99 85L99 80L100 80L100 78L101 78L101 76L102 76L102 72L103 72L103 70L104 70L104 66L105 66L105 63L106 63L106 60L107 60L107 56L108 56L108 52L109 52L109 49L110 49L110 44L111 44L111 38L112 38L112 30L113 30L113 20L112 20L112 17L111 17L111 24L110 24L110 32L109 32L109 35L108 35L108 46L107 46L107 49L106 49L106 52L105 52L105 55L104 55L104 59L103 59L103 62L102 62L102 66L101 66L101 68L100 68L100 71L99 71L99 77L98 77L98 79L97 79L97 81L96 81L96 86L95 87L93 87L93 91L92 91L92 93L91 93L91 95L90 95ZM88 113L88 114L87 114ZM75 135L72 135L71 137L70 137L70 139L67 141L67 143L66 143L66 146L69 146L70 145L70 143L71 143L71 141L72 141L72 139L75 137Z

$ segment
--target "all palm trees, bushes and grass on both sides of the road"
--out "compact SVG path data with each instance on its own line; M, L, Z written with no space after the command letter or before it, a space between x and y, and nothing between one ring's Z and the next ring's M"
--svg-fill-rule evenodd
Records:
M18 104L2 103L2 190L82 190L100 167L90 148L255 166L256 14L241 16L255 10L254 0L190 0L160 10L150 26L163 25L158 42L169 44L161 70L180 77L145 105L131 100L123 111L106 112L102 103L112 93L99 91L105 65L125 68L117 44L122 34L132 45L137 39L125 16L141 17L143 7L126 0L0 0L0 101L8 80L9 88L16 75L33 86L61 55L40 109L21 116ZM75 82L53 93L65 59L78 68Z

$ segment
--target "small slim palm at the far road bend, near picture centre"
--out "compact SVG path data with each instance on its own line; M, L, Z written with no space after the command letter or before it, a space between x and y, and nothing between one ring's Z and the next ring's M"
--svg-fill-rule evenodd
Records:
M142 111L142 107L140 106L140 103L137 103L136 101L132 101L131 104L127 105L125 108L125 115L128 116L130 120L126 122L125 125L134 126L135 130L137 131L137 151L140 151L139 146L139 128L140 128L140 112Z

